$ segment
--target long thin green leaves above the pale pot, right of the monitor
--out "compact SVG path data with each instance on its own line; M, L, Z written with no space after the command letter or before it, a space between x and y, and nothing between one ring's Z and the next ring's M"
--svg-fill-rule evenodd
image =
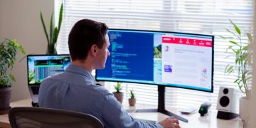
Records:
M252 80L252 50L250 49L253 42L252 35L250 33L246 33L249 43L243 44L242 37L244 35L241 33L240 28L231 20L230 23L233 24L235 31L230 31L229 29L226 29L226 31L231 33L233 36L221 36L221 38L228 39L230 46L228 46L227 51L232 50L233 54L227 57L235 55L235 65L228 64L225 68L225 73L230 74L233 73L234 70L238 70L237 78L234 80L234 82L238 84L241 92L244 92L247 96L250 96L248 82Z

